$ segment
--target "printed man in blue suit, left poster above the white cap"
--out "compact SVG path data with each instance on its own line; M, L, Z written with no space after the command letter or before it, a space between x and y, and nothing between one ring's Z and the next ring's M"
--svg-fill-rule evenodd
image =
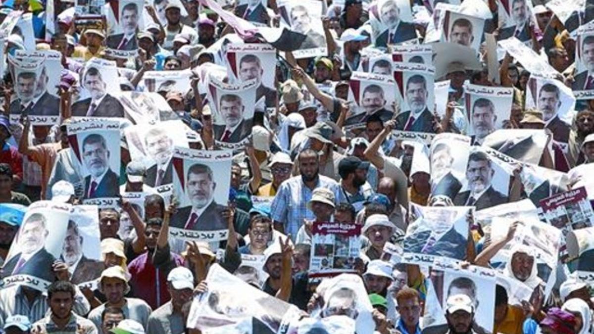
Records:
M118 175L109 167L105 138L90 134L83 140L82 158L89 175L84 178L84 198L118 197Z

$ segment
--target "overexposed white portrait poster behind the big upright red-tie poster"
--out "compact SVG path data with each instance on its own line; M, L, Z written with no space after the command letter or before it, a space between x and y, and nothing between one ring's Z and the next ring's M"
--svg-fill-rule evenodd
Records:
M144 184L150 187L173 182L173 148L188 148L188 138L182 121L165 121L155 125L134 125L124 130L132 160L146 166Z

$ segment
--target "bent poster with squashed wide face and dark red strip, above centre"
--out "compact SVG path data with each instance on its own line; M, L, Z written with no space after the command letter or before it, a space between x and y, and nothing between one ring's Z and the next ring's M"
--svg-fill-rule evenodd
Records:
M349 101L355 102L345 125L365 124L371 115L386 122L393 118L393 103L399 103L396 81L391 75L353 72L349 80Z

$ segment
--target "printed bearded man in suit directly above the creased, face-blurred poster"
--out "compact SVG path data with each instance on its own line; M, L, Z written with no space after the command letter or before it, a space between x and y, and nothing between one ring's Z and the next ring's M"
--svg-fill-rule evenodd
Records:
M469 190L457 194L456 206L475 206L476 210L507 203L507 196L495 190L491 181L495 174L489 157L481 151L470 153L466 167Z

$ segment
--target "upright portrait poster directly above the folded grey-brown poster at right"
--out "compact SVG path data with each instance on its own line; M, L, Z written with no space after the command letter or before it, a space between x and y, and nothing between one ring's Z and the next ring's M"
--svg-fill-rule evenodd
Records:
M482 144L488 134L503 128L503 122L510 119L514 90L466 84L464 93L470 124L468 134L473 145Z

